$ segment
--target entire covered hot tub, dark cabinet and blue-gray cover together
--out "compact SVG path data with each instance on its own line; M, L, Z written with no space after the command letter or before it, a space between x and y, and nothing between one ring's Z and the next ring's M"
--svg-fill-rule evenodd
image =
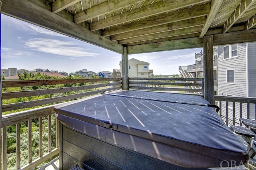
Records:
M55 107L60 168L206 169L248 160L242 142L200 96L118 91Z

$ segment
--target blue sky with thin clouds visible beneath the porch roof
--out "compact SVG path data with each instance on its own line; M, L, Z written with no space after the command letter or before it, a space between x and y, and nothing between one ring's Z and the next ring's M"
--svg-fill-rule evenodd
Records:
M121 54L1 14L1 69L35 68L96 73L120 69ZM180 74L202 48L129 55L150 63L154 75Z

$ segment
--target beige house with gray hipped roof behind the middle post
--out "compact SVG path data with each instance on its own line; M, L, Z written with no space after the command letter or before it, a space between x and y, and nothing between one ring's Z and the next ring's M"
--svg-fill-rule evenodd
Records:
M122 72L122 61L119 63ZM148 66L150 63L145 61L140 61L138 59L129 59L128 60L128 74L129 77L148 77Z

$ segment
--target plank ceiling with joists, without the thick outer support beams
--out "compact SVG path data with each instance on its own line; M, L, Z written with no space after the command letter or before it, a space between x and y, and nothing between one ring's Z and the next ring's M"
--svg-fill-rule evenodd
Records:
M256 0L28 1L124 47L256 28Z

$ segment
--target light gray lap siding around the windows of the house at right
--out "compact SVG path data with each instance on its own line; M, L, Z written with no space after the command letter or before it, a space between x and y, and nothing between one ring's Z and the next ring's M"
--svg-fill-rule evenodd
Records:
M234 69L234 84L226 83L226 70ZM246 44L238 44L238 57L223 59L223 46L218 47L218 94L226 96L234 95L247 97L247 67ZM242 117L247 118L247 105L242 104ZM222 102L222 109L226 112L226 102ZM233 109L228 107L228 119L232 118ZM240 103L235 103L235 112L240 112ZM225 117L225 115L222 115ZM235 115L236 123L239 123L239 115ZM254 118L253 115L250 118Z

